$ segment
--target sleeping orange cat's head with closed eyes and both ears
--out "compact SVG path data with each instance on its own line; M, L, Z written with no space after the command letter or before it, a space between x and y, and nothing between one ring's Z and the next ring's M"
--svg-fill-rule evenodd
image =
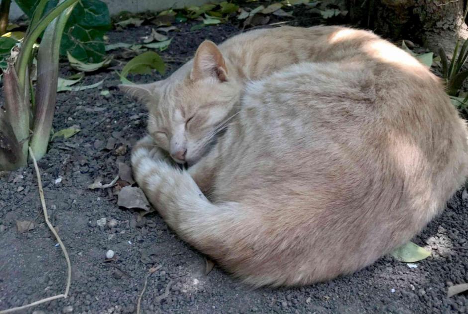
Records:
M156 144L176 162L191 165L235 112L241 87L231 69L218 47L205 41L169 78L120 88L147 105L148 133Z

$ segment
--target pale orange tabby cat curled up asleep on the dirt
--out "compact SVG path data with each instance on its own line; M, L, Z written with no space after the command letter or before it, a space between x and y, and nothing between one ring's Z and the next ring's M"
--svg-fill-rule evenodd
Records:
M204 42L168 79L122 88L150 112L135 180L181 238L254 287L370 265L468 175L466 125L441 81L368 31Z

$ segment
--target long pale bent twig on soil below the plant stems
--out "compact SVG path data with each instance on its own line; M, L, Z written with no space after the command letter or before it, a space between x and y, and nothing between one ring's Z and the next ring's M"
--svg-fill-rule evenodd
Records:
M62 249L63 255L65 256L65 259L67 260L67 271L68 271L67 284L65 286L65 293L63 293L63 294L59 294L59 295L56 295L56 296L41 299L41 300L38 300L38 301L35 301L35 302L32 302L32 303L23 305L21 307L2 310L2 311L0 311L0 314L10 313L10 312L18 311L18 310L24 310L24 309L30 308L32 306L35 306L35 305L38 305L38 304L41 304L41 303L45 303L45 302L49 302L49 301L52 301L52 300L55 300L55 299L67 298L68 291L70 290L70 284L72 282L72 266L70 264L70 258L68 257L67 249L63 245L62 240L60 239L59 235L57 234L57 231L55 231L54 227L52 226L52 224L49 221L49 216L47 215L47 207L46 207L46 204L45 204L44 190L42 189L41 174L39 172L39 167L37 166L36 158L34 157L34 153L32 152L31 147L29 147L29 155L31 156L32 162L34 163L34 169L36 170L37 185L39 187L39 196L41 198L42 211L44 213L45 222L46 222L47 226L49 227L50 231L54 234L55 238L57 239L57 242L59 242L59 245L60 245L60 248Z

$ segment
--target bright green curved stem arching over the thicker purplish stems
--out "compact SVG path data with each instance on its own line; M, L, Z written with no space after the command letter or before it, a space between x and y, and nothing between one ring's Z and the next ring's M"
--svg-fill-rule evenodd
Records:
M28 36L24 38L24 42L19 52L18 60L16 61L16 72L18 73L19 85L24 88L26 83L26 67L29 64L31 58L32 47L36 42L39 35L46 29L46 27L59 16L67 7L77 3L79 0L65 0L51 10L47 15L42 17L37 25L34 26L30 31L28 30Z

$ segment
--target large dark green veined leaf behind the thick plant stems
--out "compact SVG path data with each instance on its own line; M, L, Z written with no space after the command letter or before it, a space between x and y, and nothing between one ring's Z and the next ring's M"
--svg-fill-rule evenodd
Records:
M39 0L16 0L16 3L32 17ZM57 3L58 0L47 1L44 14ZM60 54L66 55L68 51L80 61L102 61L105 57L103 36L110 27L107 4L99 0L80 0L65 25Z

